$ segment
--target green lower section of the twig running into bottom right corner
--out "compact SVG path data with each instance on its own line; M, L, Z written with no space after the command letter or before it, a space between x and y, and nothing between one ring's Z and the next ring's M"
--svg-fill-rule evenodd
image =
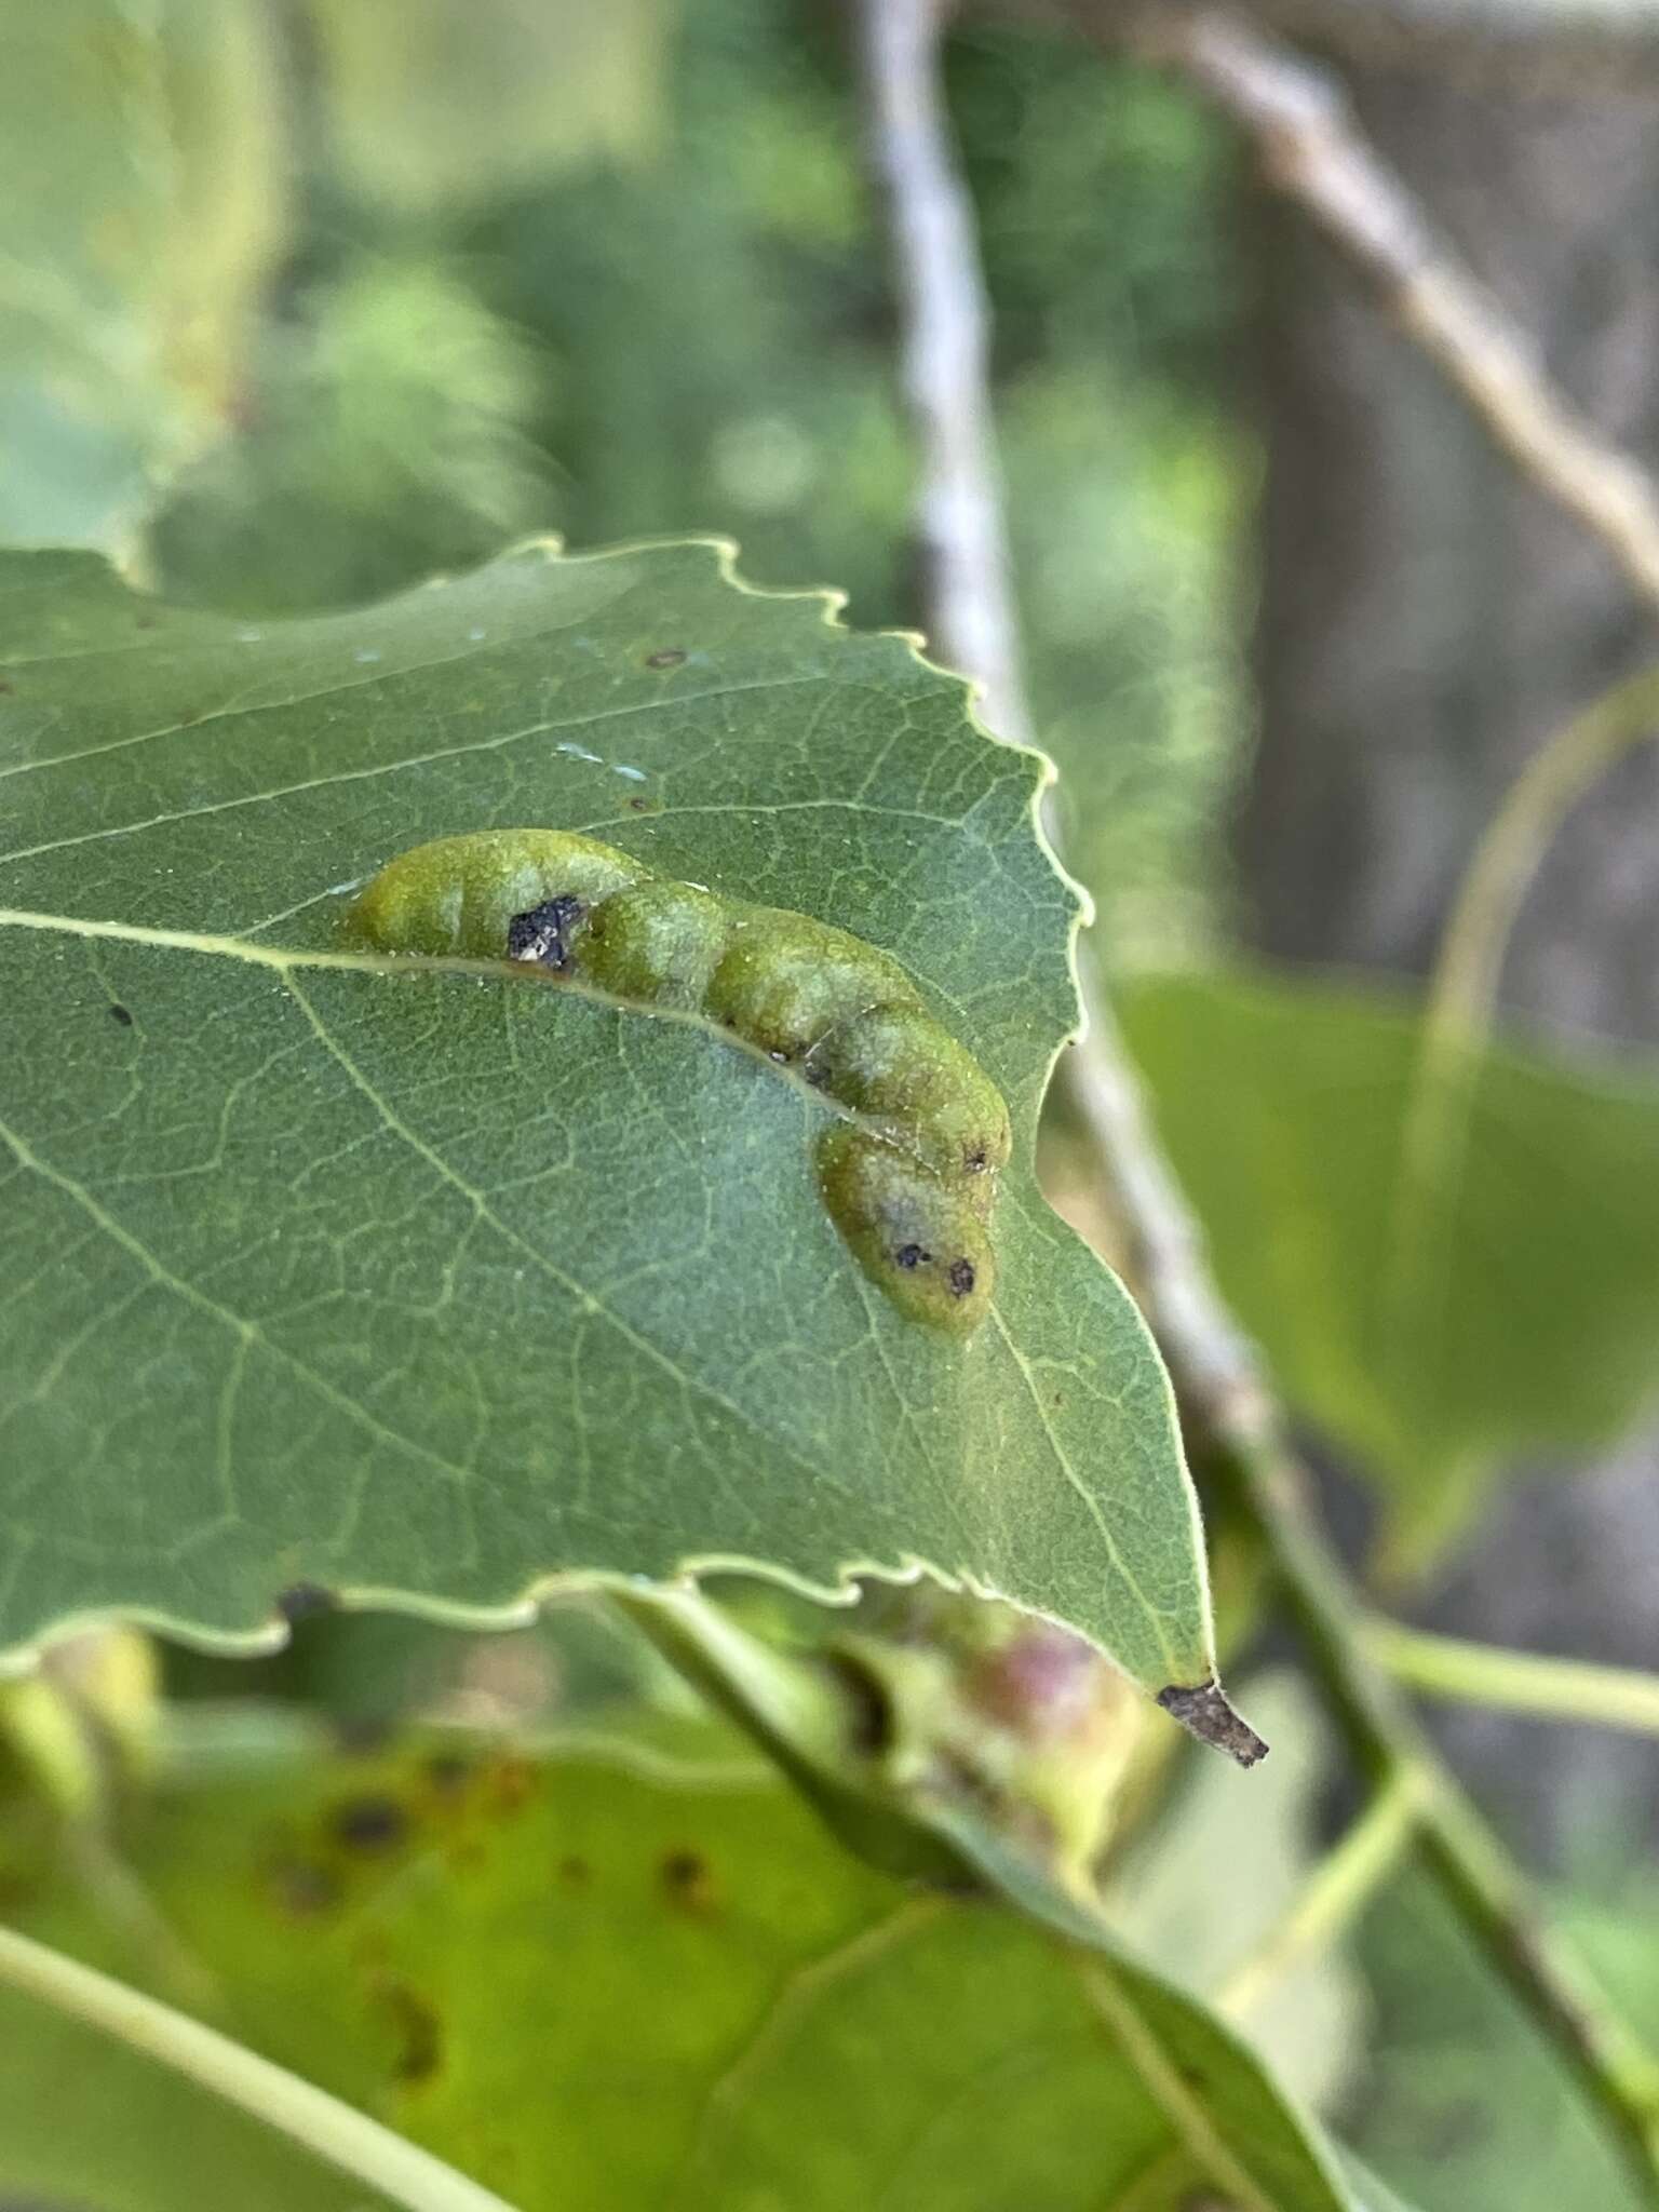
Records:
M1659 2062L1575 1958L1542 1927L1526 1878L1462 1794L1394 1681L1371 1659L1347 1568L1305 1493L1301 1469L1265 1420L1217 1447L1245 1520L1267 1548L1310 1663L1358 1763L1378 1787L1420 1790L1418 1849L1515 2000L1608 2121L1637 2201L1659 2212Z

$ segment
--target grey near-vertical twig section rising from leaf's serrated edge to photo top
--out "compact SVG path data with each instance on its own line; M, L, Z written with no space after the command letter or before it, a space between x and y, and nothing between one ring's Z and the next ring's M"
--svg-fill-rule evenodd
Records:
M918 538L931 648L973 677L987 723L1031 743L989 411L989 314L973 208L936 69L940 0L860 0L872 157L900 294L900 376L916 425Z

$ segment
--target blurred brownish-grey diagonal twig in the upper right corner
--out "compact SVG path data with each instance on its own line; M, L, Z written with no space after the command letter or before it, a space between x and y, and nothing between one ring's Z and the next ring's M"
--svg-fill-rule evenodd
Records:
M1267 181L1358 263L1495 442L1659 606L1659 487L1555 389L1522 332L1367 144L1338 84L1225 9L1155 9L1139 22L1137 49L1243 124Z

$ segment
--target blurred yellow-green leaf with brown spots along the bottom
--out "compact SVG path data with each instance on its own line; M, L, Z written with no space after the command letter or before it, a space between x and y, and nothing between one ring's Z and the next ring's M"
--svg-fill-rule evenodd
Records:
M1192 2000L863 1867L703 1741L175 1792L137 1865L221 2024L524 2212L1374 2212Z

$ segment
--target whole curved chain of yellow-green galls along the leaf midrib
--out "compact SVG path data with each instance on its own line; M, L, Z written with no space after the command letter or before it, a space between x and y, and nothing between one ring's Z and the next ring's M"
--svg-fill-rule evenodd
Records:
M717 898L566 830L480 830L389 860L349 936L387 953L526 960L617 998L701 1011L858 1117L825 1130L825 1210L911 1321L969 1336L991 1310L989 1214L1011 1150L1000 1091L874 945Z

